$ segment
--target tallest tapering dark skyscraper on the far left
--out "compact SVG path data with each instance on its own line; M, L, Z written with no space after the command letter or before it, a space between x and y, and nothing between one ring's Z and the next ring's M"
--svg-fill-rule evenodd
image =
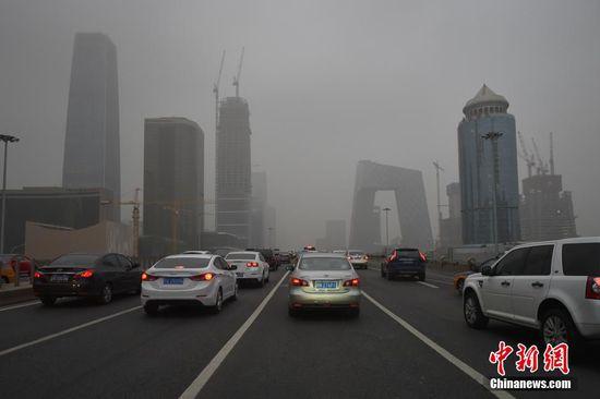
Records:
M117 49L99 33L77 33L73 46L62 185L107 189L121 197ZM112 220L120 207L112 206Z

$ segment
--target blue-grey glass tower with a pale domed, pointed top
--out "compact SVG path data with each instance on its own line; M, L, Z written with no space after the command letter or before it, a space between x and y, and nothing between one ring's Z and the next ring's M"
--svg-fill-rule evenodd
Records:
M497 140L497 239L515 242L520 237L515 117L507 113L507 109L506 98L485 85L463 108L465 117L458 124L458 166L465 244L494 240L494 154L491 141L482 138L490 132L502 133Z

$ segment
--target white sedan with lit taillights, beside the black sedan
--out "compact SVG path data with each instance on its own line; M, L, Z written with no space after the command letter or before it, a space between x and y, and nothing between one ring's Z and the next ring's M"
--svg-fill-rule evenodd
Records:
M142 305L149 315L160 305L177 304L200 304L218 313L225 300L237 295L236 274L218 255L171 255L142 274Z

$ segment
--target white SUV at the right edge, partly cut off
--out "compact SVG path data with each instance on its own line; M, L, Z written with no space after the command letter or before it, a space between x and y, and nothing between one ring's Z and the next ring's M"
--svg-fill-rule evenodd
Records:
M539 328L545 343L600 338L600 237L519 245L467 277L467 325Z

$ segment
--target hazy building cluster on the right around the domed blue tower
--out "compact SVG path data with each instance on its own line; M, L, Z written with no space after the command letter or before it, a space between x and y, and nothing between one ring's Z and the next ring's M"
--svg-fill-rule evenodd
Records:
M536 159L528 154L523 137L519 153L520 133L507 109L506 98L485 85L463 109L458 124L459 182L446 186L448 215L440 222L440 250L496 240L511 244L577 235L572 195L563 191L562 177L555 174L552 149L550 170L539 155ZM485 140L490 132L501 133L496 143ZM529 170L521 181L521 194L519 154ZM533 166L536 174L531 173Z

